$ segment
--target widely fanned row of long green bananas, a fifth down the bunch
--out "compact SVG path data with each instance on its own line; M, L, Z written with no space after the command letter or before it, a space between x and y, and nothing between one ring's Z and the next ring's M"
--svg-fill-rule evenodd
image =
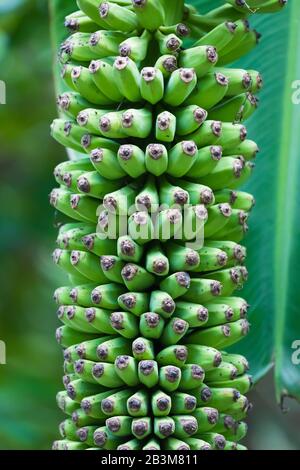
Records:
M257 71L216 67L216 60L208 58L211 50L210 46L187 49L179 64L173 56L165 55L154 67L141 70L134 60L121 56L93 60L88 68L66 64L62 76L73 93L60 96L58 104L75 117L78 111L88 108L88 102L113 108L121 101L146 101L151 105L162 101L169 107L198 105L209 110L229 97L253 96L261 89L262 78ZM171 71L166 69L170 62Z

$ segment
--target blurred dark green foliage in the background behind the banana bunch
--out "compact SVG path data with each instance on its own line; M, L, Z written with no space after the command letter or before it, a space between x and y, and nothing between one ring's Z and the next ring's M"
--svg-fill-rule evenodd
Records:
M0 80L7 87L0 105L0 340L7 347L0 449L47 449L63 419L55 403L62 356L52 293L64 280L51 261L56 229L48 194L65 152L49 135L56 110L48 22L47 0L0 0ZM252 401L249 447L300 449L299 407L290 401L290 412L281 413L272 374Z

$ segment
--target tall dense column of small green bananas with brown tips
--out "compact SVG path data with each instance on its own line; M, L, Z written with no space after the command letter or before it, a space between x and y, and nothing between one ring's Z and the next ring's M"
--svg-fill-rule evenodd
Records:
M66 419L56 450L244 450L246 249L240 187L259 151L244 121L258 71L226 67L258 43L248 17L286 1L77 0L58 58L67 91L54 294Z

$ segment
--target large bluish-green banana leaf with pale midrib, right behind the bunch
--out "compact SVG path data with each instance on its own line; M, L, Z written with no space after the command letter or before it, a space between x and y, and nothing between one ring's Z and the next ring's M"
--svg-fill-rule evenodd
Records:
M201 13L224 4L222 0L190 0ZM75 2L51 0L53 50L64 39L61 25ZM249 138L261 148L252 180L245 190L257 200L250 218L249 281L241 292L251 305L250 335L234 350L247 356L257 382L275 363L278 401L300 399L300 280L297 273L300 222L300 159L298 158L300 108L293 103L300 78L300 5L290 0L280 14L253 15L252 27L262 33L259 46L235 66L257 69L265 86L260 107L247 122ZM56 90L64 90L55 61ZM297 83L295 83L297 86ZM298 84L299 86L299 84ZM80 154L72 152L71 158ZM299 204L299 205L298 205ZM299 341L298 341L299 340ZM298 342L297 342L298 341ZM294 348L294 349L293 349Z

